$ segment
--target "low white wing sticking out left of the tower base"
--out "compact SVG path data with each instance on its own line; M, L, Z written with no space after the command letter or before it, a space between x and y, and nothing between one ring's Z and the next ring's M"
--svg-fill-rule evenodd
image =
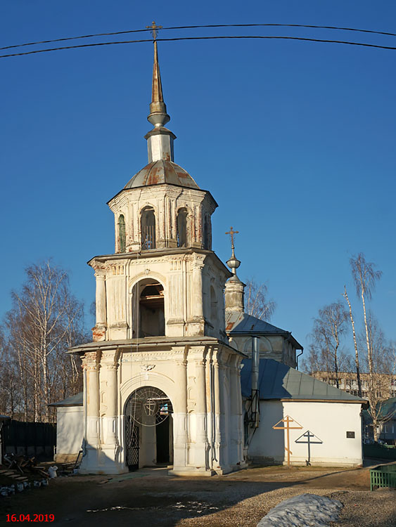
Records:
M56 454L57 463L72 462L82 449L84 416L82 392L49 406L56 408Z

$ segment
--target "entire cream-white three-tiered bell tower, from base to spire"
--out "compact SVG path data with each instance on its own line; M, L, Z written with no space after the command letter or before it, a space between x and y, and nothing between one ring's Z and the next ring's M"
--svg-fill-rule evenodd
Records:
M94 341L84 368L80 471L165 463L210 476L243 467L241 361L229 345L224 284L212 252L212 195L174 163L157 43L148 164L109 202L115 253L95 256Z

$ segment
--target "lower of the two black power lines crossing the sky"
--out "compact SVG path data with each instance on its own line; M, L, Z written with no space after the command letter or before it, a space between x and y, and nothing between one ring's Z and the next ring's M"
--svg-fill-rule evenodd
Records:
M392 49L395 50L394 46L380 46L378 44L366 44L364 42L351 42L345 40L328 40L328 39L309 39L307 37L279 37L274 35L231 35L231 36L219 36L219 37L174 37L172 39L156 39L158 42L170 42L179 40L216 40L216 39L281 39L281 40L300 40L308 42L324 42L328 44L347 44L350 46L364 46L366 48L380 48L380 49ZM6 57L18 57L22 55L32 55L34 53L46 53L48 51L59 51L61 49L75 49L75 48L89 48L93 46L111 46L113 44L137 44L140 42L152 42L153 39L142 39L142 40L121 40L114 42L96 42L94 44L78 44L76 46L63 46L60 48L47 48L47 49L36 49L34 51L25 51L23 53L10 53L8 55L0 55L0 58Z

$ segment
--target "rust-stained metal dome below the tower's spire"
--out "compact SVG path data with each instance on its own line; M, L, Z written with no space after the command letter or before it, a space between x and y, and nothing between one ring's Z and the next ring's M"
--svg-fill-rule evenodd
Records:
M172 161L158 160L148 163L124 186L124 188L145 187L168 183L181 187L199 188L190 174Z

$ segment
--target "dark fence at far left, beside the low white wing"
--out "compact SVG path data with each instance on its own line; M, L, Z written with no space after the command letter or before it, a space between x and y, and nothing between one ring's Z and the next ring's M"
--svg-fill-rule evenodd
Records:
M6 422L3 427L4 453L53 459L56 445L55 423Z

